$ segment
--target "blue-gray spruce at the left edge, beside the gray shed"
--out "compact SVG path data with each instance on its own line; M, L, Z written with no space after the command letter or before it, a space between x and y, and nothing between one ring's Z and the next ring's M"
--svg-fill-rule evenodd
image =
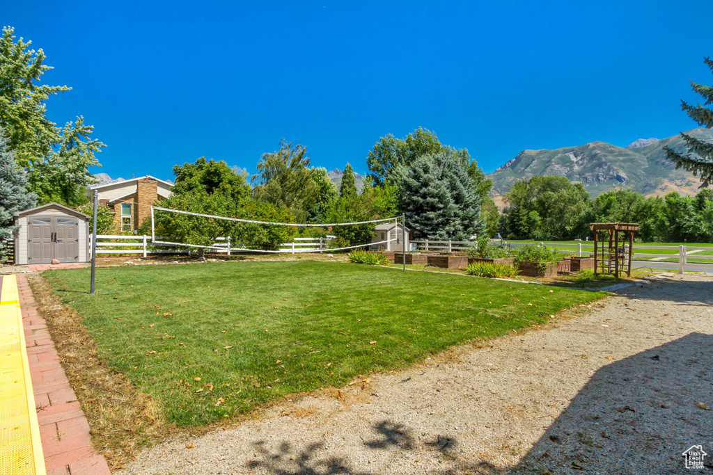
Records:
M4 242L14 239L14 214L33 207L36 201L36 195L27 191L27 173L16 165L3 132L0 129L0 262L8 257Z

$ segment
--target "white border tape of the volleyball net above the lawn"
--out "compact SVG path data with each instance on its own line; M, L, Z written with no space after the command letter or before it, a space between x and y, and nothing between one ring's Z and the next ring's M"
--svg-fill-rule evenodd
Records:
M155 229L154 229L154 215L153 212L155 209L158 209L160 211L165 211L165 212L172 212L172 213L179 213L179 214L189 214L190 216L201 216L204 218L212 218L212 219L225 219L227 221L238 221L241 223L253 223L253 224L272 224L275 226L314 226L314 227L327 227L327 226L352 226L355 224L369 224L369 223L381 223L384 221L394 221L396 226L398 226L398 218L384 218L384 219L372 219L371 221L354 221L352 223L329 223L329 224L312 224L312 223L305 223L305 224L296 224L296 223L274 223L271 221L255 221L253 219L240 219L240 218L229 218L227 216L215 216L212 214L202 214L202 213L193 213L193 212L188 212L188 211L181 211L179 209L170 209L170 208L161 208L161 207L151 207L151 242L153 244L168 244L171 246L185 246L185 247L191 247L195 249L210 249L214 251L238 251L238 252L265 252L265 253L271 253L271 254L284 254L288 252L294 252L294 251L288 251L287 249L281 249L281 250L267 250L267 249L248 249L248 248L242 248L242 247L231 247L230 244L227 246L225 244L222 245L214 245L214 246L200 246L198 244L186 244L186 243L181 243L181 242L171 242L171 241L158 241L155 236ZM398 233L396 233L398 234ZM338 248L329 248L329 249L300 249L299 252L332 252L332 251L346 251L347 249L357 249L359 247L366 247L366 246L379 246L379 244L386 244L389 242L393 241L398 241L398 239L395 237L393 239L386 239L384 241L379 241L379 242L369 242L366 244L356 244L356 246L344 246L344 247L338 247Z

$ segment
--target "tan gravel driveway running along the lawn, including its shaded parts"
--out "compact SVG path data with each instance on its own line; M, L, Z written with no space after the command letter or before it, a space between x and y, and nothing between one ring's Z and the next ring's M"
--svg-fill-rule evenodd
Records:
M713 461L713 411L697 404L713 407L712 304L712 276L655 276L551 328L284 400L116 473L713 473L682 458L702 444Z

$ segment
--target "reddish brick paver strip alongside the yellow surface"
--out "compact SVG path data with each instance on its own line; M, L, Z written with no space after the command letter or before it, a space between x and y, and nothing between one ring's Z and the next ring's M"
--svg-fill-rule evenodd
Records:
M17 290L47 475L111 475L106 459L91 447L89 424L25 276L17 276Z

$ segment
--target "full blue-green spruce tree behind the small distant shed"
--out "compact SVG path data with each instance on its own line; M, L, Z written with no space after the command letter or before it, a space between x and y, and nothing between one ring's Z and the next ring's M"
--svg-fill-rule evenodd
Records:
M481 197L456 154L424 155L396 176L399 204L417 239L463 241L485 231Z

